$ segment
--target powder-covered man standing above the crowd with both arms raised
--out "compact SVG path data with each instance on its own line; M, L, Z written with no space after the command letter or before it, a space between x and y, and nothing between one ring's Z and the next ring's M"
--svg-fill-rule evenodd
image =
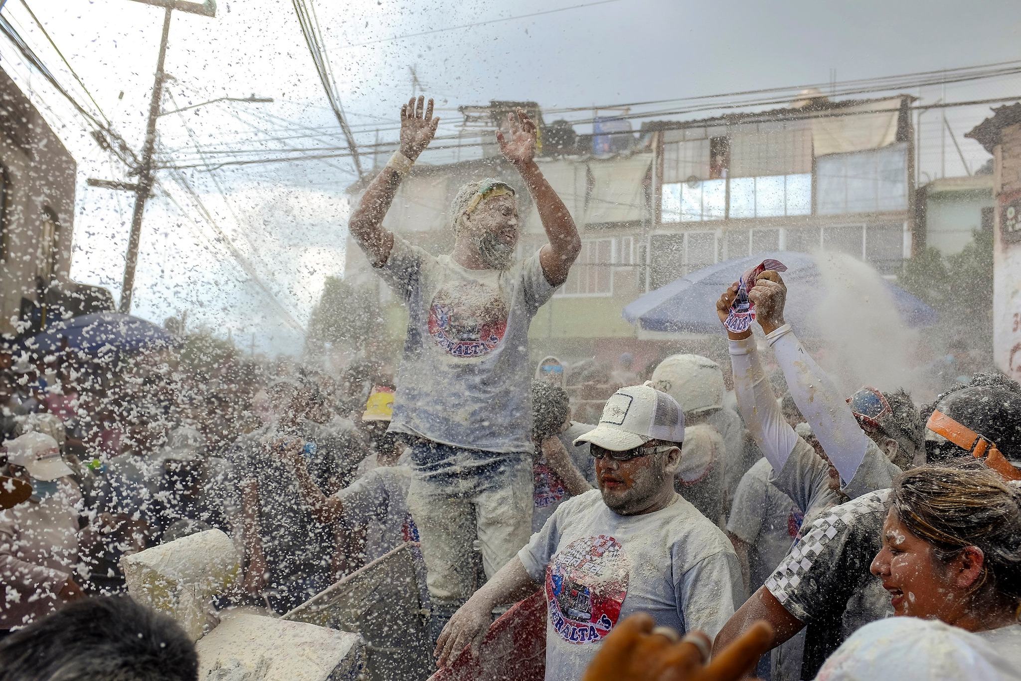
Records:
M408 505L422 538L434 637L476 588L473 544L481 544L492 576L528 542L528 329L581 250L571 213L534 160L538 129L520 108L508 116L508 134L496 139L506 169L535 202L547 244L516 257L518 191L494 179L470 182L454 195L449 254L433 255L386 229L397 189L438 125L432 99L401 107L400 149L369 183L348 226L407 306L390 431L411 439Z

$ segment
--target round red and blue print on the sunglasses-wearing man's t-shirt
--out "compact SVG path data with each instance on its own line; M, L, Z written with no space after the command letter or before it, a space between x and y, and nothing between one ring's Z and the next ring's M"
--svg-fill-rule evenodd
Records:
M572 541L546 568L549 625L569 643L596 643L610 633L628 594L628 556L613 537Z

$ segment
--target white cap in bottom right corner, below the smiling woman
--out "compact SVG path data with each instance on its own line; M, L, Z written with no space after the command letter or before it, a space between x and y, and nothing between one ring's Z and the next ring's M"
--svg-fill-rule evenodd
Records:
M833 651L819 681L1007 681L1021 674L981 636L934 620L891 617L865 625Z

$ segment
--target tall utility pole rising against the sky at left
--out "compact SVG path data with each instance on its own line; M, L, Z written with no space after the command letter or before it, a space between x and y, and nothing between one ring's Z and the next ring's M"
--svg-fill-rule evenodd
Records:
M152 84L152 100L149 102L149 119L145 126L145 144L142 147L141 164L138 167L138 182L135 184L135 210L131 218L131 236L128 238L128 254L125 257L125 278L120 285L120 311L127 314L131 311L132 290L135 288L135 267L138 264L138 245L142 235L142 215L145 213L145 201L152 192L152 154L156 148L156 119L159 117L159 107L162 102L163 61L166 58L166 38L171 34L171 12L175 9L202 14L216 15L215 0L205 0L205 3L185 2L183 0L135 0L147 5L164 8L163 34L159 40L159 57L156 59L156 80Z

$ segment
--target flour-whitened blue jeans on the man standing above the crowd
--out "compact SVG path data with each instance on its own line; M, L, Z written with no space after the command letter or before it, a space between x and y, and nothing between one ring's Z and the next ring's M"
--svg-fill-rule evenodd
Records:
M486 578L506 565L532 534L532 456L411 445L415 479L407 505L422 538L433 607L449 618L476 584L479 541Z

